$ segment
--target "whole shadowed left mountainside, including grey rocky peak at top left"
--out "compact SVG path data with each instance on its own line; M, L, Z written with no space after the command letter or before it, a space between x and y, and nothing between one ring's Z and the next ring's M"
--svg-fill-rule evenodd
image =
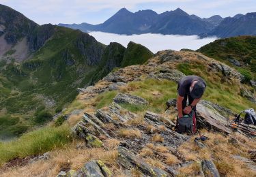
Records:
M153 55L139 44L132 43L139 51L105 46L79 30L37 25L4 5L0 28L0 139L23 133L37 118L51 119L76 97L76 88L93 84L123 61L141 64ZM12 118L17 120L1 125Z

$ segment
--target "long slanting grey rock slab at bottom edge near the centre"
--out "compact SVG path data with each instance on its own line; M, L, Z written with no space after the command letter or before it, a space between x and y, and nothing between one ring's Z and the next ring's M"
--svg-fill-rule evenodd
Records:
M146 176L169 176L165 170L161 170L158 167L153 167L147 164L143 159L137 157L127 148L122 146L118 147L118 163L128 170L132 168L138 168Z

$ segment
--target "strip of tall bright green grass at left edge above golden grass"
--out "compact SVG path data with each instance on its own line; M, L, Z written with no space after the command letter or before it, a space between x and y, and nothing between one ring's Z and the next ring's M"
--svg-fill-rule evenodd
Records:
M0 164L16 157L23 158L61 148L70 140L70 128L67 125L31 131L17 140L0 143Z

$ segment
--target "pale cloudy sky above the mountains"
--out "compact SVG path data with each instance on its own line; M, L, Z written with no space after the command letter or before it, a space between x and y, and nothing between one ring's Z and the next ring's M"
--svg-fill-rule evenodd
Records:
M154 10L158 14L180 7L188 14L223 17L256 12L256 0L0 0L42 25L45 23L98 24L111 17L120 8L131 12Z

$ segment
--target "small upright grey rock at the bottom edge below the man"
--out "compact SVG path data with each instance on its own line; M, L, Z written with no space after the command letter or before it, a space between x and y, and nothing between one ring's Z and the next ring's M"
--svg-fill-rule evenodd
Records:
M220 177L220 174L212 160L204 160L201 162L201 165L205 176Z

